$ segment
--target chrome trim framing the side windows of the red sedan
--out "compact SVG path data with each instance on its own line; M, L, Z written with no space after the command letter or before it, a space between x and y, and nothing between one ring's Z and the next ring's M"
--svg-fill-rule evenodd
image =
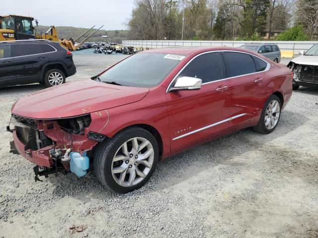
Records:
M247 55L251 55L251 56L254 56L260 60L263 60L262 58L256 56L256 55L253 55L253 54L250 54L250 53L247 53L247 52L242 52L242 51L232 51L232 50L219 50L219 51L207 51L207 52L203 52L199 55L196 55L195 57L193 57L191 60L189 60L181 69L180 71L173 77L173 79L171 80L171 82L169 83L168 87L167 87L167 90L166 90L166 93L169 91L169 88L171 86L171 84L174 82L174 80L179 76L179 74L183 71L183 69L188 66L188 64L194 60L195 58L201 56L201 55L204 55L204 54L208 54L208 53L214 53L214 52L237 52L237 53L243 53L243 54L247 54ZM207 82L207 83L202 83L202 85L205 85L205 84L209 84L209 83L215 83L215 82L220 82L220 81L224 81L224 80L227 80L227 79L231 79L231 78L238 78L238 77L242 77L242 76L246 76L246 75L251 75L251 74L256 74L256 73L261 73L261 72L265 72L265 71L268 71L270 69L270 63L263 60L265 63L267 63L267 67L263 70L263 71L259 71L259 72L254 72L254 73L247 73L247 74L242 74L242 75L238 75L238 76L234 76L234 77L228 77L228 78L222 78L222 79L219 79L219 80L215 80L215 81L211 81L211 82Z

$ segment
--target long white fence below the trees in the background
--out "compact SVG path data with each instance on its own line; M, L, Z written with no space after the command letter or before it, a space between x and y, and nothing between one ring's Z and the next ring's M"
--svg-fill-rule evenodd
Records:
M295 55L308 50L318 41L122 41L124 46L143 48L189 47L189 46L232 46L240 47L245 43L274 43L281 50L293 50Z

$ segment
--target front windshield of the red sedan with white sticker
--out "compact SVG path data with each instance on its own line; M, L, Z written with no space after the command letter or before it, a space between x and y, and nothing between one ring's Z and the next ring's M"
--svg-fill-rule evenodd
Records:
M99 75L99 79L124 86L154 87L184 58L181 55L159 53L136 54Z

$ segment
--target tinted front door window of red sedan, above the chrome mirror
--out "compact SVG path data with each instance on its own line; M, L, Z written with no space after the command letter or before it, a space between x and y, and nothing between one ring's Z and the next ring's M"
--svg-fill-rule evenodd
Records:
M179 74L179 77L187 76L200 78L202 83L208 83L223 78L223 68L218 52L207 53L192 60Z

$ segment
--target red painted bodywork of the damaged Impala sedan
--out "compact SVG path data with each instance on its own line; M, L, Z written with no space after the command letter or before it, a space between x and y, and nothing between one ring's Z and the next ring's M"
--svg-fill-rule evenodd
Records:
M260 55L257 56L271 64L268 71L210 82L203 84L197 91L166 92L170 82L189 60L204 52L222 50L254 54L229 47L145 51L139 54L180 54L186 57L153 88L124 87L88 79L26 96L12 106L11 112L36 119L38 129L55 141L57 148L66 150L72 144L72 151L79 151L81 154L92 150L97 144L95 140L87 138L89 131L111 138L129 126L151 128L152 132L156 131L158 142L162 143L161 156L166 158L195 144L256 125L264 103L271 94L283 97L283 108L289 101L292 95L292 73L287 67ZM216 91L225 86L226 90ZM91 117L90 125L84 129L84 135L72 135L71 142L71 135L60 128L56 119L87 114ZM231 119L238 115L243 116ZM220 121L224 122L219 123ZM215 126L199 130L213 124ZM196 132L176 139L194 131ZM15 132L13 138L22 156L32 163L52 166L47 152L51 147L31 151L29 155L24 151L24 145Z

